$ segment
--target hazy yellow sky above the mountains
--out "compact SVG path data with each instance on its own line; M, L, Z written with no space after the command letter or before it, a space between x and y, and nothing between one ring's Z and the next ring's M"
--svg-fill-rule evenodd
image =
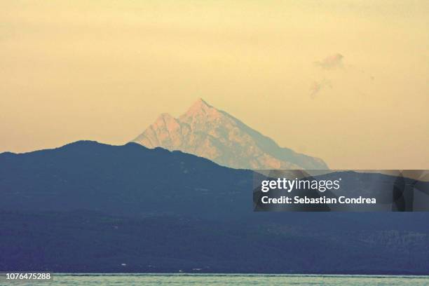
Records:
M330 168L429 168L429 1L0 1L0 152L198 98Z

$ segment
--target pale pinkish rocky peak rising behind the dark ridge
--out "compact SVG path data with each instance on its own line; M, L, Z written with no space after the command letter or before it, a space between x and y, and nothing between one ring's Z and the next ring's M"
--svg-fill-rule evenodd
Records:
M273 139L199 99L185 114L161 114L132 142L205 157L230 168L327 169L320 158L279 147Z

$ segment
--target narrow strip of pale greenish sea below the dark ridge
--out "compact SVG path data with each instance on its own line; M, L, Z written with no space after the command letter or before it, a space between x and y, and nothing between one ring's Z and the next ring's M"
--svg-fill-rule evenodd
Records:
M3 285L3 284L1 284ZM277 275L277 274L76 274L54 273L43 282L6 282L5 285L429 285L429 276L398 275Z

